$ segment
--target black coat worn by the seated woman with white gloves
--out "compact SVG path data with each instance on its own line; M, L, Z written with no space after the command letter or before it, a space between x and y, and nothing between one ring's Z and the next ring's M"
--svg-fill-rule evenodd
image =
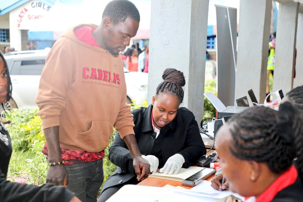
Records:
M152 107L150 105L147 108L141 107L132 111L135 137L142 155L151 154L155 142L151 124ZM187 168L206 153L195 116L185 107L178 108L175 119L161 128L158 138L161 142L164 163L169 157L178 153L184 157L183 167ZM127 184L127 181L135 176L132 156L119 133L115 135L112 146L109 148L108 158L118 167L105 181L102 192L121 183Z

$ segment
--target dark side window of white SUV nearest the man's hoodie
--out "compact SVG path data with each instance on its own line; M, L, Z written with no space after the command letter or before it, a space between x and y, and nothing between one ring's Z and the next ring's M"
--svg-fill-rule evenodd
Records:
M19 75L41 75L44 66L45 60L23 60Z

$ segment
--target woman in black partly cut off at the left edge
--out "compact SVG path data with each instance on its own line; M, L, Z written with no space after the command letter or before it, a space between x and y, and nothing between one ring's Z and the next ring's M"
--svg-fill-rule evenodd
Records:
M12 82L8 66L0 53L0 103L11 99ZM8 163L12 154L11 138L3 123L0 122L0 201L18 202L80 202L75 194L63 186L54 184L35 185L19 184L6 180Z

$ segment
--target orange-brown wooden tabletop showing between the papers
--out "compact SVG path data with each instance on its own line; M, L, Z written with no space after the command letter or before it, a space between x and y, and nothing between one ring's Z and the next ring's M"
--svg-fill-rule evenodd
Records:
M214 151L215 150L211 150L211 151L209 151L206 154L209 155L209 154L213 153ZM206 180L207 181L211 181L211 179L213 177L215 177L215 174L211 175ZM177 187L177 186L184 187L186 189L191 189L192 188L192 187L183 186L182 182L180 182L180 181L166 180L166 179L160 179L160 178L155 178L155 177L147 177L145 180L143 180L142 182L138 183L138 185L152 186L152 187L164 187L167 184L175 186L175 187Z

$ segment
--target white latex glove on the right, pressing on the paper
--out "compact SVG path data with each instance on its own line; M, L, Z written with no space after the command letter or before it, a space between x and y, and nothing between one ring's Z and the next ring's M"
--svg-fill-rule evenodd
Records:
M183 163L185 162L184 157L181 154L176 153L168 158L163 168L160 169L160 173L164 174L178 174Z

